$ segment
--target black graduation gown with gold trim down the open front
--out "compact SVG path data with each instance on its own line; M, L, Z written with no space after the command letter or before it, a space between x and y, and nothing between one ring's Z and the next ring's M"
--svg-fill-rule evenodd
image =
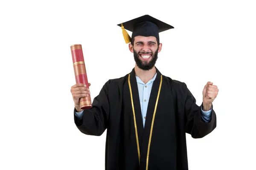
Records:
M188 170L186 133L202 138L212 132L216 127L213 108L211 121L204 122L201 106L196 105L186 84L163 76L157 69L143 128L134 69L130 73L134 113L128 77L106 82L94 98L93 107L83 111L82 119L74 115L76 126L82 133L94 136L107 129L106 170Z

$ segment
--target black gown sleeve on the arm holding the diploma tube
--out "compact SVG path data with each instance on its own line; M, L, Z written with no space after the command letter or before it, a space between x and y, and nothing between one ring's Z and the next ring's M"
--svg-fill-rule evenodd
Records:
M84 109L81 119L76 116L74 109L74 120L77 128L84 134L100 136L108 127L109 101L108 87L110 81L102 87L98 96L93 99L92 108Z

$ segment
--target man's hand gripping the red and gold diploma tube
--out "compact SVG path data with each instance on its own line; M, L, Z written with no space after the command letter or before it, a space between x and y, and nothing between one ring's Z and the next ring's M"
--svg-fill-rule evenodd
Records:
M88 84L89 84L89 86L91 85L90 83L88 83ZM76 111L77 112L83 111L80 108L79 99L81 97L88 97L89 96L89 94L90 94L89 88L86 87L86 85L84 85L84 84L77 83L77 84L75 84L71 87L70 91L71 91L71 94L73 96Z

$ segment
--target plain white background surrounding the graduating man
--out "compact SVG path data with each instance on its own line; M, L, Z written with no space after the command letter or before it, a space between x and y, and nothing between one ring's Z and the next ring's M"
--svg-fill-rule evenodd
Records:
M202 102L219 88L217 127L187 135L189 170L256 169L256 11L253 0L1 1L0 169L103 170L105 137L73 120L70 45L81 44L92 99L135 65L119 23L149 14L174 26L160 33L157 68ZM128 31L131 35L131 32Z

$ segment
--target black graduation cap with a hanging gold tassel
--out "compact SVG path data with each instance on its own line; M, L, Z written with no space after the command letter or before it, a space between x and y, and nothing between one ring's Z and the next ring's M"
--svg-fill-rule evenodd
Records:
M149 15L143 15L125 23L118 24L118 26L122 28L122 33L126 43L131 42L131 39L136 36L154 36L159 40L160 32L174 28L173 26L170 26L169 24L157 20ZM125 29L132 32L131 37Z

